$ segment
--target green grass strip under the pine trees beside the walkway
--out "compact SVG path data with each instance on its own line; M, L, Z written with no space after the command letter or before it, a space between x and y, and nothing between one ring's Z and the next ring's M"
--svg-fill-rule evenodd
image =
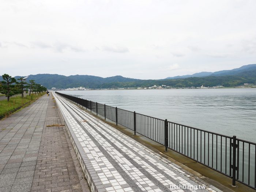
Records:
M24 98L21 96L10 97L9 102L7 102L7 99L0 101L0 119L7 117L23 106L29 105L44 94L45 93L31 94L30 96L27 95Z

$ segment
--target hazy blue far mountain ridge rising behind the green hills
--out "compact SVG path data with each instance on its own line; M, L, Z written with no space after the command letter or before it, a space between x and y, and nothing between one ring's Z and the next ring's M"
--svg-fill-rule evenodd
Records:
M206 76L225 76L225 75L236 75L244 71L256 69L256 64L251 65L244 65L240 68L231 69L231 70L223 70L223 71L216 71L216 72L200 72L195 73L192 75L182 75L182 76L174 76L174 77L167 77L166 79L184 79L189 77L206 77Z

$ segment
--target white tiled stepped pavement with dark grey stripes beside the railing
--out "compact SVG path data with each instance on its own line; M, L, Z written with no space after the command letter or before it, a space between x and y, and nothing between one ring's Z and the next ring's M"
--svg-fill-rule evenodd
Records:
M54 94L91 191L219 191ZM172 187L170 187L173 186ZM179 185L187 186L178 189ZM194 190L195 191L195 190Z

